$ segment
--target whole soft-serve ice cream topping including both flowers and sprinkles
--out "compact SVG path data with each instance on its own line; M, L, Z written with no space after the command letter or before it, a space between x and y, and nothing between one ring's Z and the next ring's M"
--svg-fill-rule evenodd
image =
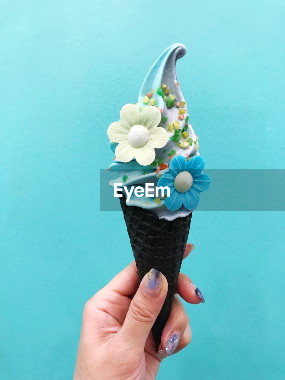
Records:
M110 185L125 186L128 206L141 207L167 220L189 215L211 183L202 173L205 164L198 152L198 137L189 123L187 103L176 78L176 61L185 53L183 44L169 46L147 73L138 103L123 106L120 121L108 128L116 155L109 170L119 174ZM133 186L145 188L146 184L168 186L170 194L138 196L128 192Z

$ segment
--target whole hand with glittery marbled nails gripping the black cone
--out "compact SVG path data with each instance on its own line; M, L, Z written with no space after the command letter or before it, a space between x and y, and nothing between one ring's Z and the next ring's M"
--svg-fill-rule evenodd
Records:
M184 258L193 249L193 244L187 244ZM157 353L150 330L165 300L167 281L152 269L139 284L136 270L133 261L87 301L74 380L152 380L164 357L190 343L190 321L176 294ZM183 273L177 293L192 304L204 302Z

